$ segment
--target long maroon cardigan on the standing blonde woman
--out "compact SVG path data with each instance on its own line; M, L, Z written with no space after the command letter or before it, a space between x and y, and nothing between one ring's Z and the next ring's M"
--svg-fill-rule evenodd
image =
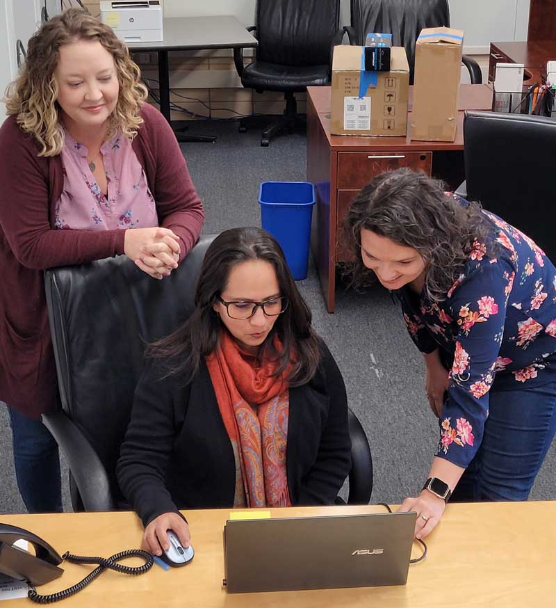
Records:
M202 203L170 125L147 104L141 115L133 150L158 221L177 234L183 258L201 233ZM58 401L42 271L124 253L124 230L54 230L62 162L38 151L15 116L7 118L0 128L0 401L31 417Z

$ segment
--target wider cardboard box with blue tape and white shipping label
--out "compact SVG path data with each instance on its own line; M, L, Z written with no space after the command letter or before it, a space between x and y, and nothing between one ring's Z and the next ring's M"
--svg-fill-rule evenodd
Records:
M405 49L392 47L389 72L370 70L365 63L365 47L334 47L332 134L404 136L409 96Z

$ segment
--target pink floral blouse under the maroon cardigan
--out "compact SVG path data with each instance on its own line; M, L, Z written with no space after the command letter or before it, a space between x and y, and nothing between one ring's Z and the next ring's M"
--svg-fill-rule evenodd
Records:
M129 138L119 133L101 146L107 195L92 175L87 154L83 144L65 134L61 152L64 188L56 203L56 228L116 230L158 226L154 198Z

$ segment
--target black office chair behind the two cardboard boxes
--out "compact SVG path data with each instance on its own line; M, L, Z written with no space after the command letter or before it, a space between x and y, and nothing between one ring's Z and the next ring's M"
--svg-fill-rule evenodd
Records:
M424 27L450 26L448 0L351 0L352 24L345 27L351 45L365 45L372 32L391 33L393 45L405 47L409 84L414 81L415 42ZM466 55L462 62L472 84L482 83L479 64Z

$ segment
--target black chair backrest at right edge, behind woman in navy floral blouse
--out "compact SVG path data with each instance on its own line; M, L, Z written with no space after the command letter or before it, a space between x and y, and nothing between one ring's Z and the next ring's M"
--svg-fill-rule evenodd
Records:
M467 198L525 232L556 263L556 122L543 116L466 112L464 146Z

